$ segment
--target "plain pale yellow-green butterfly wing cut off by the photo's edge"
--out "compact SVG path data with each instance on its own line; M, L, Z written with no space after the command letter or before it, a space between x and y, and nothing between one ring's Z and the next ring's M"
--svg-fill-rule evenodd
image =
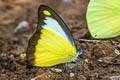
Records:
M120 0L91 0L87 23L93 38L105 39L120 35Z

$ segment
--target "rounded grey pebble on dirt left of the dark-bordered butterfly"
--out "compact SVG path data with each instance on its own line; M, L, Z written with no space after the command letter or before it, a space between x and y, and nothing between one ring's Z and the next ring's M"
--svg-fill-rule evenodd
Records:
M18 24L18 26L15 28L14 33L24 33L29 30L29 23L27 21L22 21Z

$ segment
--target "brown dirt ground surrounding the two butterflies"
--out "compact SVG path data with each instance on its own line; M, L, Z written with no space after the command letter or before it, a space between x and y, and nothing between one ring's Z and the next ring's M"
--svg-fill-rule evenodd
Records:
M86 10L89 0L0 0L0 80L117 80L120 75L119 38L94 40L88 31ZM76 63L49 68L27 67L26 48L35 31L37 9L45 4L65 21L83 49ZM16 34L22 21L29 30ZM77 68L76 68L77 65ZM65 69L64 69L65 67Z

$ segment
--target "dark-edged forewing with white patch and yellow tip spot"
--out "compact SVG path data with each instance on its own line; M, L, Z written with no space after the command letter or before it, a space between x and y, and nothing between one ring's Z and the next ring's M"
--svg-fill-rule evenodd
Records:
M49 29L56 32L65 40L67 40L71 45L73 45L74 48L76 48L69 28L54 10L45 5L42 5L38 9L38 16L38 28L41 28L42 26L44 29Z

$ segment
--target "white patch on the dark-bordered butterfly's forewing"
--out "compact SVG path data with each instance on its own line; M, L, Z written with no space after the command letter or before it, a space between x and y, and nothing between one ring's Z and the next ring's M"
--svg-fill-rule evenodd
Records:
M66 35L66 33L61 28L60 24L55 19L53 19L51 17L46 17L44 22L46 24L42 26L43 29L48 29L48 30L56 32L61 37L63 37L65 40L67 40L71 45L73 45L73 43L71 43L71 41L68 38L68 36ZM73 46L75 47L75 45L73 45Z

